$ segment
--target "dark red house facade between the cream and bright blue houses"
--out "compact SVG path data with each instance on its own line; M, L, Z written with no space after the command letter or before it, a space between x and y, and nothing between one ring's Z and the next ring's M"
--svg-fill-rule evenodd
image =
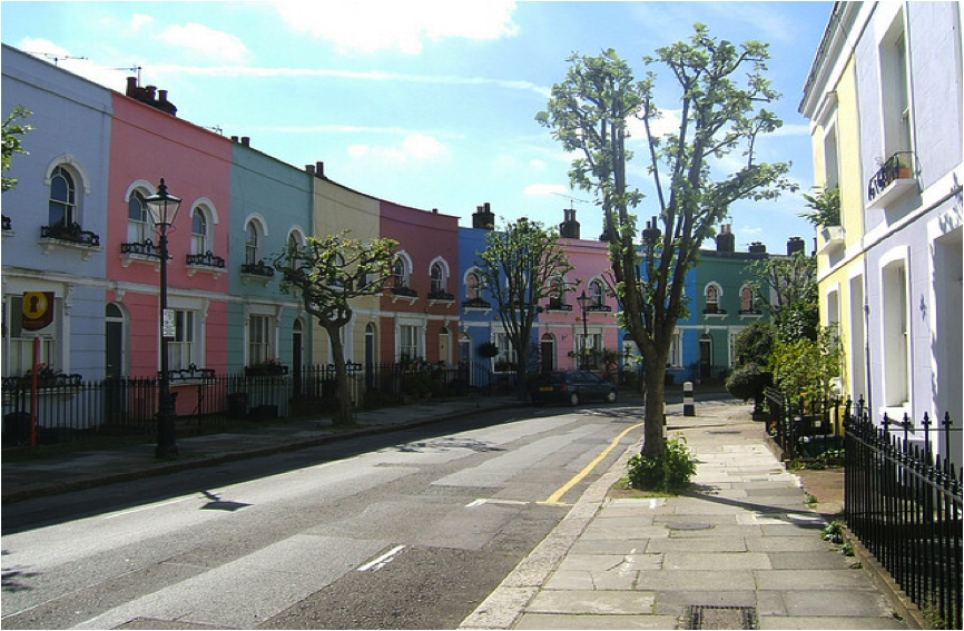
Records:
M382 201L381 236L399 241L405 288L382 297L380 356L459 361L459 218ZM434 279L433 279L434 270Z

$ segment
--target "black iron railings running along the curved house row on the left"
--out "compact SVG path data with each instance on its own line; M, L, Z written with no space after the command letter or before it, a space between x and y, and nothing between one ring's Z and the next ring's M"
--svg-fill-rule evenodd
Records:
M338 407L333 365L250 373L218 376L210 369L171 371L178 427L217 431L242 422ZM3 447L150 435L157 431L157 378L85 382L70 375L38 381L35 391L32 378L8 377L2 386ZM484 364L348 364L348 392L354 407L491 394L494 387L495 378Z

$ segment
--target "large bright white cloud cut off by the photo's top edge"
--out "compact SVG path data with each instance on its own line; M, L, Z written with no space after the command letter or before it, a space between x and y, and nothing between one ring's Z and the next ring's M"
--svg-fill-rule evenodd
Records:
M332 41L343 53L397 49L417 55L426 39L499 39L519 32L514 0L278 0L275 6L292 28Z

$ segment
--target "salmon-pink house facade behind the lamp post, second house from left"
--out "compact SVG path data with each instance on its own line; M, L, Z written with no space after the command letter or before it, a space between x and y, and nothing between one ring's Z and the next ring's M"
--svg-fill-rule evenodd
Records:
M232 144L175 116L115 95L110 144L107 256L108 316L120 321L122 333L118 373L155 376L159 369L159 265L156 256L124 254L121 244L157 245L149 221L130 211L137 194L156 193L164 178L170 195L181 198L168 230L168 307L179 312L178 338L171 369L227 369L227 297ZM198 215L203 221L196 221ZM201 226L204 229L198 230ZM137 249L137 248L135 248ZM188 255L213 257L188 263ZM218 262L214 257L222 257ZM118 315L119 314L119 315ZM109 345L110 346L110 345ZM108 351L110 353L110 351ZM184 388L178 413L193 408Z

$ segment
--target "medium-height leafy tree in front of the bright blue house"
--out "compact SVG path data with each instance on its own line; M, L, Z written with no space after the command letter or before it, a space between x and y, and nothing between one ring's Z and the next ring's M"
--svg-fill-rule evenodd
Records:
M572 269L559 245L559 234L522 217L503 230L485 236L485 250L476 263L515 352L519 400L525 398L530 337L540 303L554 293L552 282Z

